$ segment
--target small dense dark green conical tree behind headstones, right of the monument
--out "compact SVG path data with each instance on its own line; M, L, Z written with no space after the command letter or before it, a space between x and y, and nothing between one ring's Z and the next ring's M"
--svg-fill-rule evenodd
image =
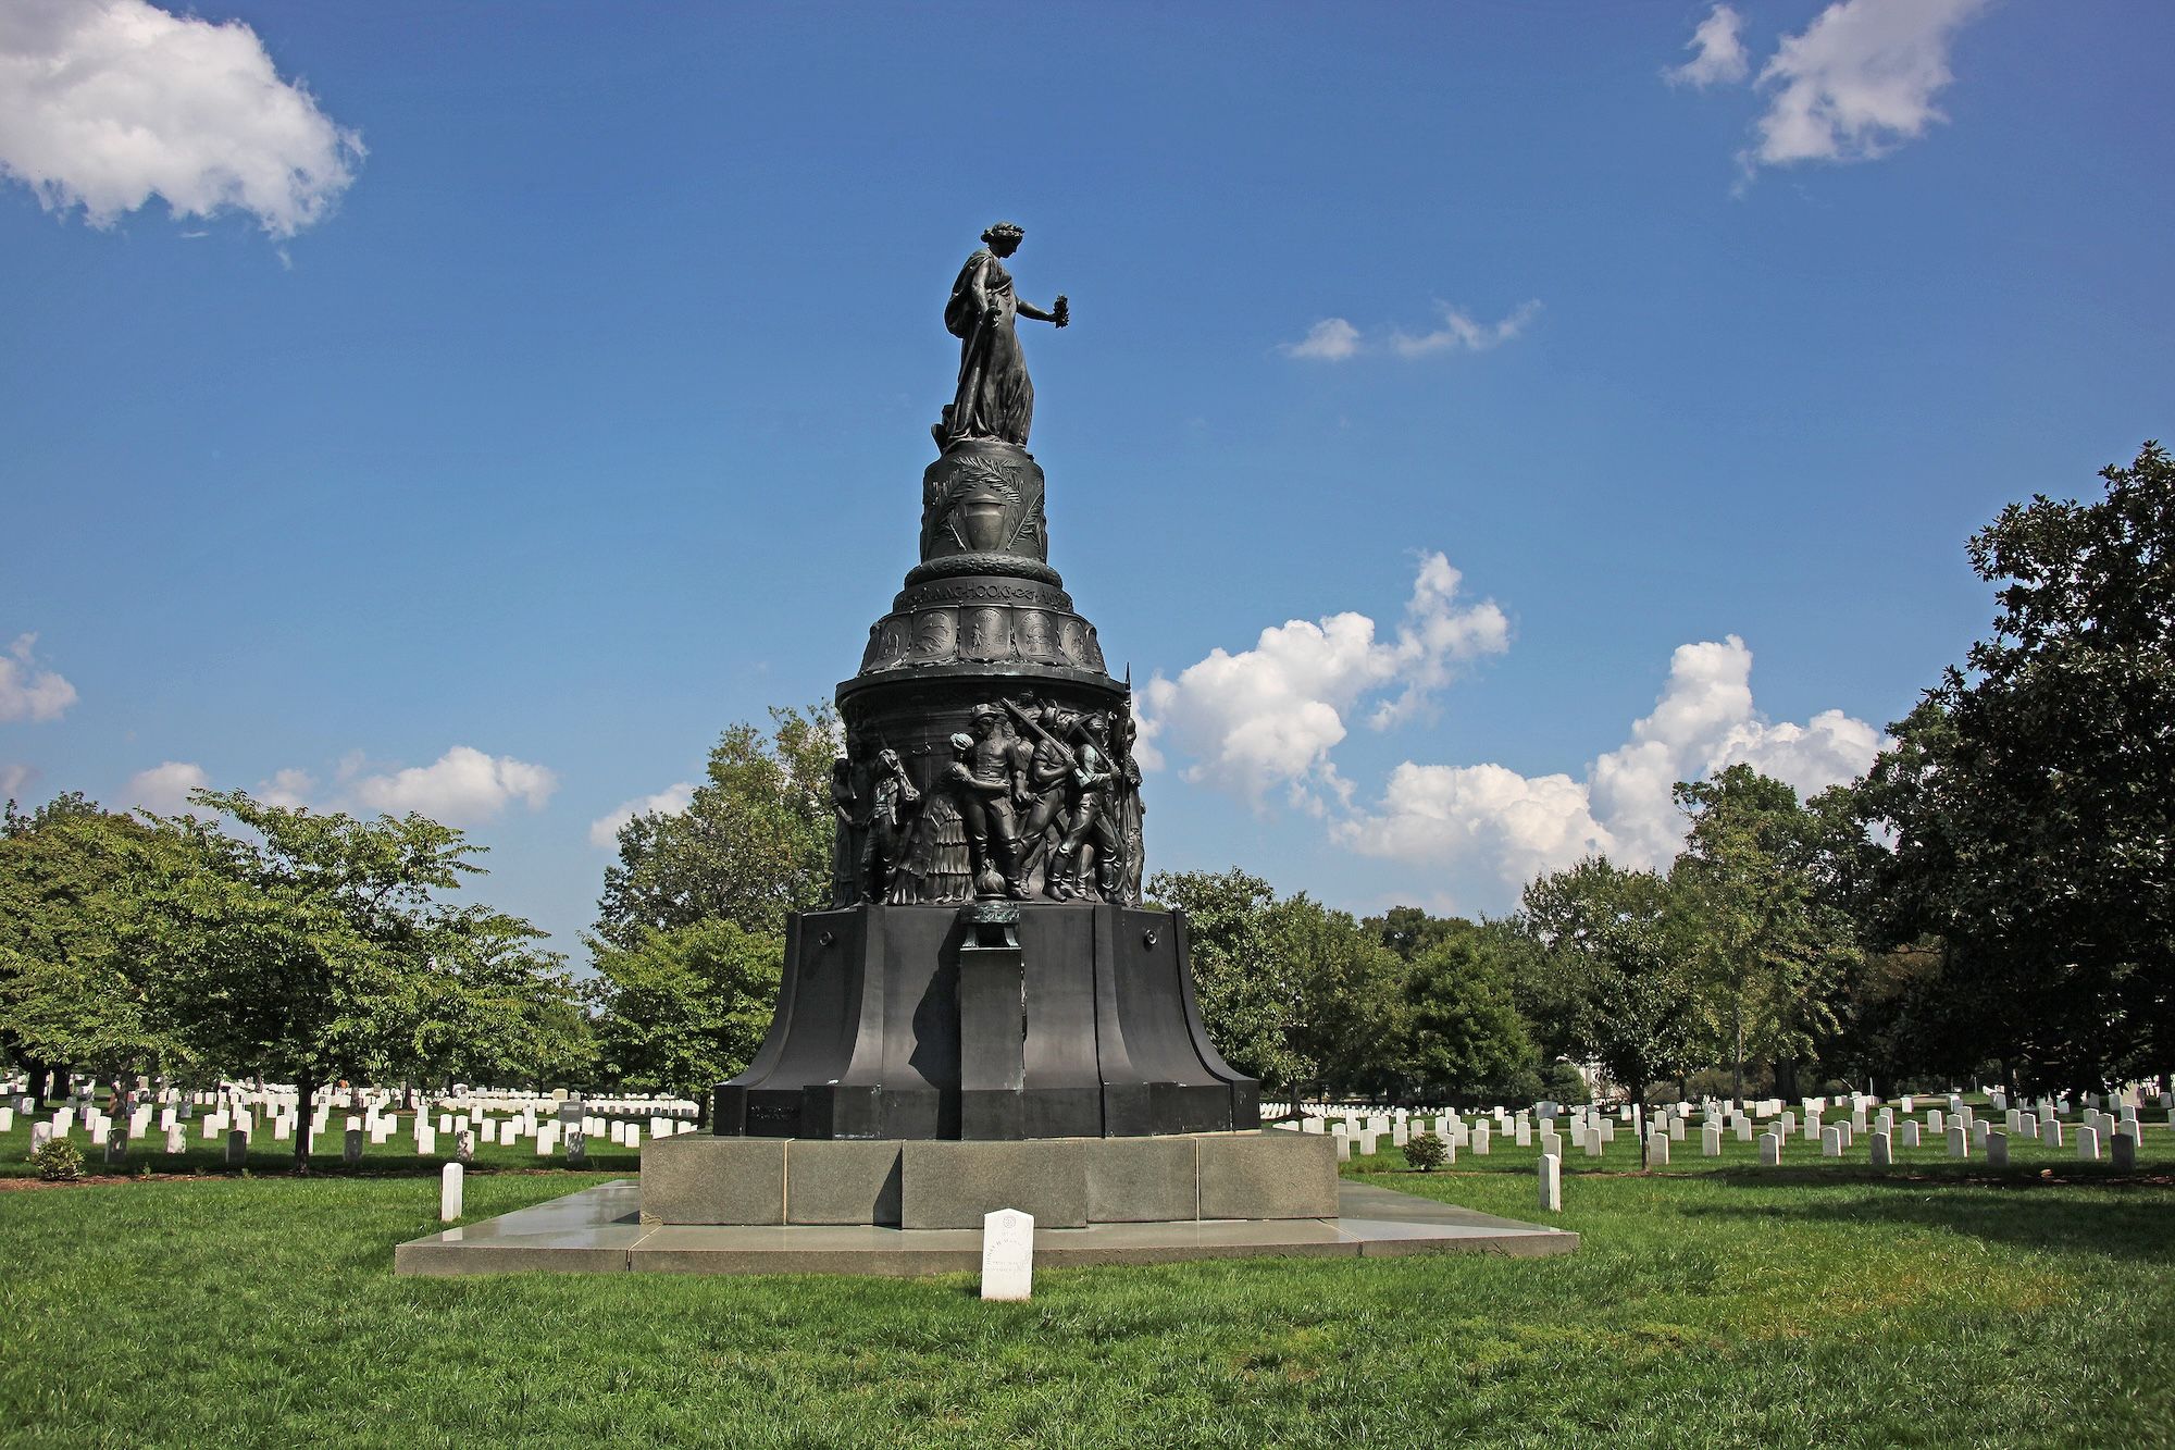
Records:
M1429 1102L1472 1102L1531 1076L1533 1041L1512 1004L1509 982L1477 932L1427 947L1405 980L1401 1058Z

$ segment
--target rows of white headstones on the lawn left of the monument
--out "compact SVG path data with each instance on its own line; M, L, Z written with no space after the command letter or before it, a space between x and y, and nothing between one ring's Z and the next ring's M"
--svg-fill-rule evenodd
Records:
M0 1091L17 1093L20 1084L0 1084ZM398 1095L387 1089L346 1089L335 1097L320 1093L311 1104L311 1145L315 1147L315 1141L331 1130L333 1115L346 1106L348 1110L341 1115L341 1156L350 1165L361 1163L365 1139L374 1145L391 1141L391 1134L402 1126L402 1117L407 1117L407 1132L413 1139L415 1154L424 1158L442 1156L439 1136L446 1136L450 1156L457 1163L474 1160L478 1145L498 1143L511 1147L522 1141L535 1143L539 1158L563 1152L568 1163L583 1163L587 1160L589 1141L598 1136L607 1136L622 1147L639 1147L644 1132L652 1139L694 1132L696 1110L683 1097L583 1104L581 1099L535 1095L515 1106L513 1095L494 1095L492 1099L442 1102L433 1119L431 1108L402 1115L396 1110L396 1102ZM492 1117L494 1106L513 1110L509 1117L498 1119ZM209 1113L198 1119L198 1108L209 1108ZM646 1110L648 1117L644 1121L618 1115L607 1117L613 1110ZM30 1097L0 1102L0 1132L15 1128L17 1113L37 1113L37 1102ZM294 1093L244 1093L239 1089L178 1093L167 1089L128 1104L126 1123L98 1110L91 1097L70 1099L61 1108L54 1108L50 1121L30 1126L30 1152L54 1139L70 1139L80 1126L91 1147L104 1150L107 1163L120 1163L130 1143L152 1134L154 1115L167 1156L187 1152L189 1123L196 1121L202 1141L217 1143L224 1136L226 1160L231 1165L244 1163L250 1145L263 1132L270 1132L274 1143L289 1143L302 1130L302 1115Z

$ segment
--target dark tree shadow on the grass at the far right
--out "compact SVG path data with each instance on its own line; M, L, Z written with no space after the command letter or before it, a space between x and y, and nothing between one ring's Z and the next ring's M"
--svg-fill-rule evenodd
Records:
M2071 1171L1986 1169L1894 1173L1714 1171L1720 1189L1829 1189L1779 1204L1683 1204L1688 1219L1834 1219L1853 1228L1912 1226L1971 1234L2010 1248L2101 1252L2168 1263L2175 1187L2166 1173L2116 1173L2077 1165Z

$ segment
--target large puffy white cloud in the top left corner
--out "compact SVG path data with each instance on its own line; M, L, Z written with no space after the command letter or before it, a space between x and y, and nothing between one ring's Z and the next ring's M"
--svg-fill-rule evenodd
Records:
M0 172L48 209L111 226L152 196L181 216L239 209L272 237L320 220L361 137L283 81L239 20L146 0L0 4Z

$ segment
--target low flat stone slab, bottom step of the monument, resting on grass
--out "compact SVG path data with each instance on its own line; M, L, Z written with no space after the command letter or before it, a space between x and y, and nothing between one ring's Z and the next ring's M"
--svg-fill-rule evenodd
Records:
M1412 1193L1340 1182L1333 1215L1188 1224L1035 1226L1035 1267L1181 1258L1383 1258L1401 1254L1568 1254L1579 1237ZM394 1250L394 1274L974 1274L979 1228L644 1224L642 1189L618 1178L581 1193L448 1228Z

